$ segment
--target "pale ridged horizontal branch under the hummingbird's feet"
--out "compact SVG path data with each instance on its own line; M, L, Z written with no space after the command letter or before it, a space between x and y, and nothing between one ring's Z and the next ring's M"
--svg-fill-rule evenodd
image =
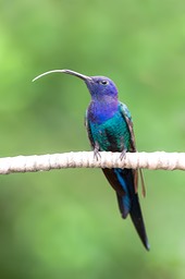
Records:
M52 155L33 155L0 158L0 174L49 171L66 168L131 168L185 170L185 153L120 153L76 151Z

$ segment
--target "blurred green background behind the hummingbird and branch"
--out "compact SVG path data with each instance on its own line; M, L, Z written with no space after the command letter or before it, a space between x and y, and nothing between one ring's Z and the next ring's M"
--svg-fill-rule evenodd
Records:
M1 0L1 157L89 150L82 81L106 75L138 150L184 151L185 2ZM0 178L0 278L185 278L181 171L145 171L147 253L100 170Z

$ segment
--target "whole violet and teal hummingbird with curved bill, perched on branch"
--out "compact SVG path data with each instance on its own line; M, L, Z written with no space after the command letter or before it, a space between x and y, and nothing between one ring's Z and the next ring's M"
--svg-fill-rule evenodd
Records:
M86 111L85 123L95 157L98 159L100 151L120 151L123 159L127 151L136 153L132 116L127 106L119 101L114 82L106 76L87 76L72 70L52 70L38 75L33 81L55 72L74 75L83 80L90 93L91 100ZM122 218L125 219L128 215L131 216L144 246L149 251L137 191L138 170L104 168L102 172L115 191ZM139 173L145 194L141 170Z

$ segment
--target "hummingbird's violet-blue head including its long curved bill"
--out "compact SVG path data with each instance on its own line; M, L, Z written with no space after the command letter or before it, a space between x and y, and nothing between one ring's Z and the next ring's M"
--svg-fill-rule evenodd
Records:
M87 85L87 88L91 95L92 100L103 99L108 97L115 98L115 99L118 98L118 89L115 84L109 77L106 77L106 76L87 76L87 75L74 72L72 70L52 70L38 75L33 81L36 81L39 77L50 73L65 73L83 80Z

